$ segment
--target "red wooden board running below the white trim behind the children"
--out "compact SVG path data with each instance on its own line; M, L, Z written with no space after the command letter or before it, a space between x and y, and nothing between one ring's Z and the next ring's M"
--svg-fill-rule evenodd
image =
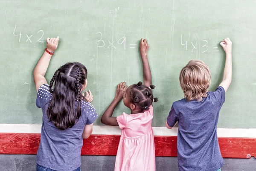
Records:
M84 139L82 155L115 156L118 135L91 135ZM154 136L156 156L177 157L177 136ZM218 138L222 157L256 157L255 138ZM0 133L0 154L36 154L39 133Z

